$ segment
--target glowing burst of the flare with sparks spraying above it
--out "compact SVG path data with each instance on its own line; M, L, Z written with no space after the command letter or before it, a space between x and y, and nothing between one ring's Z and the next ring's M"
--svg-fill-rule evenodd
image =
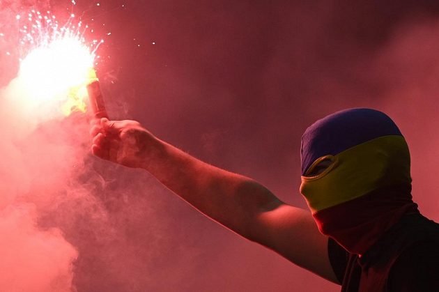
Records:
M76 21L73 13L66 24L59 24L50 11L31 10L16 19L20 24L19 78L29 97L26 102L36 110L48 103L56 105L66 116L85 112L86 85L97 79L95 52L103 40L86 43L88 26Z

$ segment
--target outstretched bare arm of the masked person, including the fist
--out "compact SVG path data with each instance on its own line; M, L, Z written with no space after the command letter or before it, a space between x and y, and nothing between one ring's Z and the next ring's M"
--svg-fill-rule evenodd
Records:
M93 154L146 169L219 224L337 282L328 259L328 238L319 233L309 211L286 205L251 178L197 160L137 122L102 119L91 134Z

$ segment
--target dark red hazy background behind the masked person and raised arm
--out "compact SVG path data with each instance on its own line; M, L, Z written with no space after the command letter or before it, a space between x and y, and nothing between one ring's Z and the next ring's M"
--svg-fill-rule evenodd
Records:
M0 17L33 4L0 1ZM38 5L60 17L72 8L66 0ZM340 109L379 109L408 141L414 201L439 220L438 1L77 0L74 10L94 29L87 38L105 38L97 70L111 118L135 119L307 208L302 132ZM0 20L0 30L8 26ZM9 40L0 42L2 86L17 74L3 54ZM81 119L56 127L62 137L84 137L86 148ZM63 191L81 185L87 196L38 208L38 226L59 228L79 252L78 292L339 291L208 220L149 174L88 151L78 159L83 168L69 172L74 183Z

